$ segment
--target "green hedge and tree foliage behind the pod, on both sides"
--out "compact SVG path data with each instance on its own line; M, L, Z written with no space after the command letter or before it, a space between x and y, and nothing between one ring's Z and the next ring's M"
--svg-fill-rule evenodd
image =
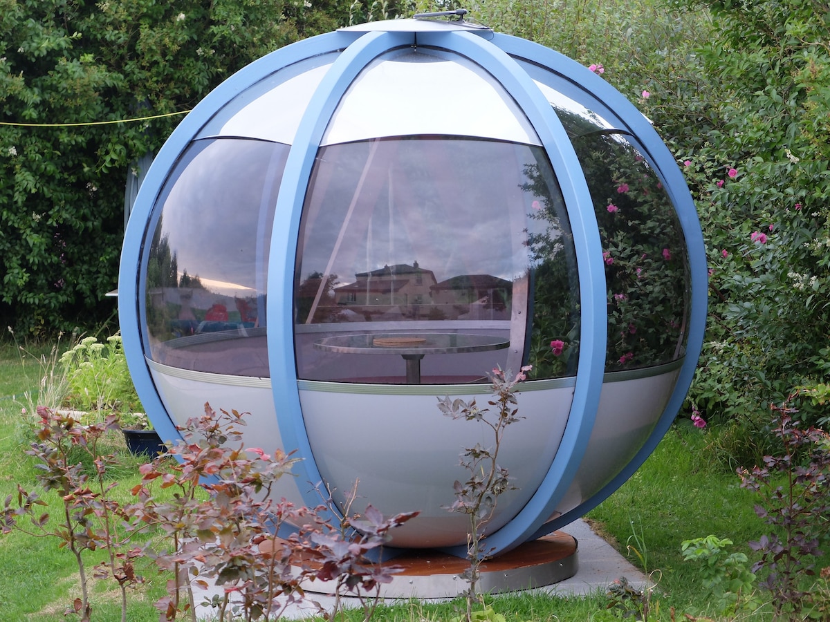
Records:
M181 112L266 51L407 6L281 2L0 0L0 121L56 124L0 126L7 323L40 330L110 313L100 301L115 287L125 173L179 117L66 124ZM460 3L413 4L423 11ZM500 32L601 64L603 78L641 107L676 154L710 264L709 328L691 390L697 409L761 421L765 403L826 377L826 0L464 6Z

